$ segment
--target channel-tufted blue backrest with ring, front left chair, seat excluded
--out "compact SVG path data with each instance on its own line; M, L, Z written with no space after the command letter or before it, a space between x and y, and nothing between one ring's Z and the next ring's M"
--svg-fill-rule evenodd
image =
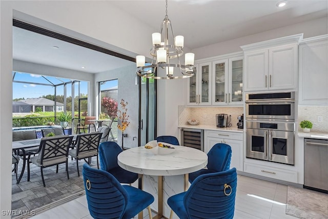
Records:
M91 216L121 218L129 195L116 178L106 171L92 169L88 164L83 165L82 174Z

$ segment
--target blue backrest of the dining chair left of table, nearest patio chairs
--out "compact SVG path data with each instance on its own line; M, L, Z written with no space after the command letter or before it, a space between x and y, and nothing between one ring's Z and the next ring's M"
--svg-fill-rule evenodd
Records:
M103 142L99 145L100 169L109 171L118 167L117 156L122 149L116 142Z

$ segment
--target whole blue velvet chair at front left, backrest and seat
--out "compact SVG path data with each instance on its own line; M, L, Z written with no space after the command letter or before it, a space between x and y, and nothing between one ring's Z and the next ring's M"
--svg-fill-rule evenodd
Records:
M86 190L88 208L93 218L128 219L148 207L154 196L132 186L121 185L116 178L104 170L83 165L83 181Z

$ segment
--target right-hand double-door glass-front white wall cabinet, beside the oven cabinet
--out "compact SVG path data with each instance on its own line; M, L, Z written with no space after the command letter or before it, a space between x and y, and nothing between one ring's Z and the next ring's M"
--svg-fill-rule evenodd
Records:
M242 105L242 61L241 56L212 62L212 105Z

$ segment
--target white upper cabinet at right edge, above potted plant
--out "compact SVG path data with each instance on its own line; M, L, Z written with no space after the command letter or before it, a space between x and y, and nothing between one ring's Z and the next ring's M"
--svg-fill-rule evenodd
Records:
M311 37L299 45L299 104L328 104L327 37Z

